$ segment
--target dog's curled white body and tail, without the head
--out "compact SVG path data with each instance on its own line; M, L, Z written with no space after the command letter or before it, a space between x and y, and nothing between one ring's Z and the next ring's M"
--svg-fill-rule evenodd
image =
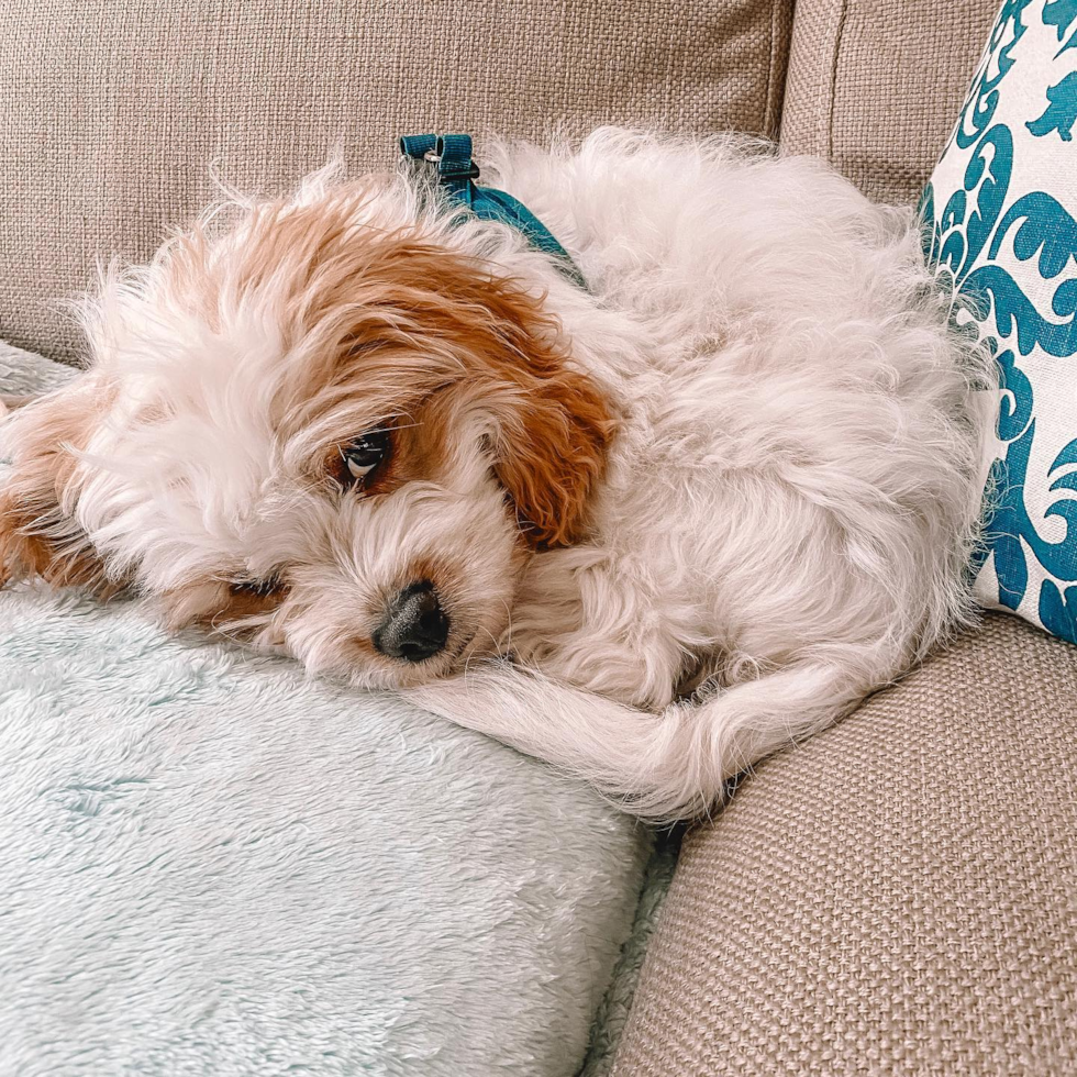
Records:
M532 670L414 695L631 810L706 811L969 615L993 375L912 212L822 163L607 131L498 171L591 281L601 310L562 311L574 337L601 341L604 311L632 326L635 347L588 355L632 421L595 537L536 557L518 596Z

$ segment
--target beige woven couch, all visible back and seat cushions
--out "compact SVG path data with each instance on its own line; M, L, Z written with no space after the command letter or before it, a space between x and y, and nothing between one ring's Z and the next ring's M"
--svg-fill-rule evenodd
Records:
M996 0L7 0L0 337L144 256L216 159L600 122L779 137L915 197ZM617 1077L1077 1074L1077 652L989 617L686 842Z

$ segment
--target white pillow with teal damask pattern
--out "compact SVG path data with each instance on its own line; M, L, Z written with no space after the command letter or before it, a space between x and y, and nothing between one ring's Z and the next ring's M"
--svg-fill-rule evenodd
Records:
M976 597L1077 643L1077 0L1007 0L924 191L1001 386Z

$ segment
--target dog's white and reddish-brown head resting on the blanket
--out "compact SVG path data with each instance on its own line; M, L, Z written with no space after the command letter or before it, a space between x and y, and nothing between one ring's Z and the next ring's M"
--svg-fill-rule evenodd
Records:
M495 651L611 421L538 290L445 237L370 181L113 274L91 370L5 422L0 577L133 585L359 685Z

